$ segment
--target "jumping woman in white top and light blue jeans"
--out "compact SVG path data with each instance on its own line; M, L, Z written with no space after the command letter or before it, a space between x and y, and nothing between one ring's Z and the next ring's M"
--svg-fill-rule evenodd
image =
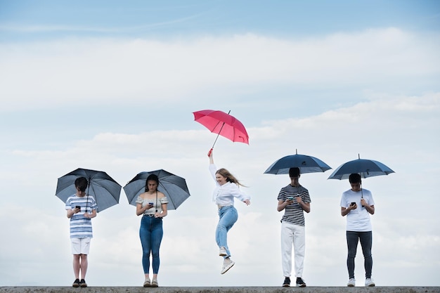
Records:
M224 263L221 268L221 274L226 273L235 262L231 259L231 252L228 248L228 231L232 228L238 219L237 209L234 207L234 197L237 197L246 205L250 204L250 196L242 193L240 190L240 182L228 170L216 169L214 158L212 157L212 149L208 152L209 171L216 181L216 188L212 193L212 200L219 208L219 223L216 228L216 242L219 245L219 256L223 256ZM243 185L242 185L243 186Z

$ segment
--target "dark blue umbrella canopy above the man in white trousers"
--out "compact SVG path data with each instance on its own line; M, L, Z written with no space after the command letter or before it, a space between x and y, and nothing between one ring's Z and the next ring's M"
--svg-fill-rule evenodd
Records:
M308 155L288 155L276 160L270 167L264 171L264 174L289 174L289 169L298 167L301 174L325 172L332 169L321 159Z

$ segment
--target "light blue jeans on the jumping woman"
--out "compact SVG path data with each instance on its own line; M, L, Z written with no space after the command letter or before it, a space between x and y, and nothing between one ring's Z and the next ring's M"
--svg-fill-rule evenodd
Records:
M238 219L237 209L233 206L222 207L219 209L219 223L215 231L215 240L217 245L226 248L226 256L224 258L231 256L231 252L228 248L228 230L234 226Z

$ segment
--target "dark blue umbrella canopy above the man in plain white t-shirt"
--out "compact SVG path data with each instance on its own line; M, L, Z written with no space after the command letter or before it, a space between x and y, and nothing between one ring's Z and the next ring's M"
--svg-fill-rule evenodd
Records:
M360 174L361 178L388 175L394 173L392 169L385 166L381 162L374 161L373 159L354 159L353 161L346 162L328 177L328 179L347 179L350 174Z

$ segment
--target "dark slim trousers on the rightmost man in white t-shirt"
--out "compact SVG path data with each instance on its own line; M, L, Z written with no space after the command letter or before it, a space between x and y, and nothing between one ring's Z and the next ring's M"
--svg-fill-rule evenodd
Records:
M365 267L365 278L371 278L373 269L373 257L371 256L371 246L373 244L373 233L347 231L347 247L349 255L347 256L347 268L349 270L349 278L354 278L354 258L358 249L358 242L361 241L363 266Z

